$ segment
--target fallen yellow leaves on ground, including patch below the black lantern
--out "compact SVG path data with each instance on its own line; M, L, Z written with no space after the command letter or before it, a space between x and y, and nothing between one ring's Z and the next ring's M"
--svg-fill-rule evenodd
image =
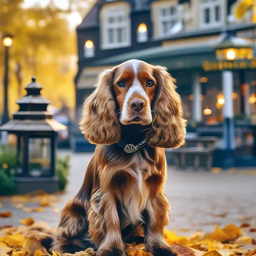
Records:
M4 256L29 256L29 255L49 255L45 248L40 244L42 237L51 236L54 228L49 227L44 221L35 221L30 214L38 212L42 214L47 207L51 207L52 211L59 211L56 204L60 200L58 196L47 195L40 192L25 196L13 196L11 198L13 208L26 212L28 218L21 219L20 225L17 227L0 226L0 255ZM29 208L26 206L29 202L33 202L36 207ZM0 205L1 206L1 205ZM0 209L1 210L1 209ZM3 210L3 208L2 208ZM226 213L219 214L219 218L224 218ZM12 218L12 212L0 211L0 221ZM255 223L256 224L256 223ZM191 230L183 230L187 236L180 236L179 232L165 230L164 238L168 244L189 246L195 250L204 252L207 256L231 256L231 255L256 255L256 225L252 223L241 223L240 227L229 224L225 227L215 226L212 232L205 234L202 231L191 232ZM129 255L151 255L144 250L144 244L126 244ZM86 252L77 252L77 256L95 255L93 250L88 249ZM54 256L60 256L58 252L52 252ZM64 253L68 256L68 253ZM69 255L70 256L70 255Z

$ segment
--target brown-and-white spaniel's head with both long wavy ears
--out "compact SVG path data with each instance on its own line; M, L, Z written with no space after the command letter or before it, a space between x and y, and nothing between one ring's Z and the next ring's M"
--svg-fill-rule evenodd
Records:
M120 124L150 125L147 143L176 148L184 143L186 122L180 96L166 68L126 61L105 70L84 102L81 131L94 144L120 140Z

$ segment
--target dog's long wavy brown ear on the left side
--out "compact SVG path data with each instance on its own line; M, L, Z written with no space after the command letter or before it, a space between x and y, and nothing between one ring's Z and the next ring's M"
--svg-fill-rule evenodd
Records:
M115 68L104 70L97 88L84 102L80 129L90 143L111 145L120 140L116 102L111 92L114 76Z

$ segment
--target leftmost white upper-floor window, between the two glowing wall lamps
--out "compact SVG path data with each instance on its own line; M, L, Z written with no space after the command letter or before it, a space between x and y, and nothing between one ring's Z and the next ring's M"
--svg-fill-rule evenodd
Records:
M103 7L100 13L102 49L115 49L131 45L131 22L127 3Z

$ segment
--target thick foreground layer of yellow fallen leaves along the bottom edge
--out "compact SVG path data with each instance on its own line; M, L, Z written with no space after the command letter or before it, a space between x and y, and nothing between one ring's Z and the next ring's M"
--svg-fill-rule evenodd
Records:
M1 216L4 216L2 214ZM5 215L8 217L8 214ZM1 227L0 230L0 255L1 256L41 256L50 255L40 244L40 240L45 234L54 233L51 228L43 221L34 222L32 218L20 220L19 227ZM251 236L256 232L256 228L250 227L248 223L243 223L241 227L229 224L226 227L215 227L212 233L202 232L192 233L190 236L177 236L175 232L165 230L164 238L168 244L189 246L195 250L204 252L207 256L233 256L256 255L256 241ZM129 255L151 255L145 252L143 244L126 244ZM59 252L52 251L51 255L60 256ZM64 253L64 256L70 254ZM84 252L77 252L77 256L95 255L92 249Z

